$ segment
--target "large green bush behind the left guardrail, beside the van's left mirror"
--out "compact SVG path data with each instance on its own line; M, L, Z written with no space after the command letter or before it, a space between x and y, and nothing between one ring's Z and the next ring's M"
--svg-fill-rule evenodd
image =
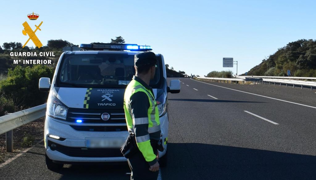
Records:
M17 110L44 104L48 93L39 91L39 80L41 77L52 79L53 71L45 65L16 66L9 69L7 79L0 81L0 89L5 98L13 99Z

